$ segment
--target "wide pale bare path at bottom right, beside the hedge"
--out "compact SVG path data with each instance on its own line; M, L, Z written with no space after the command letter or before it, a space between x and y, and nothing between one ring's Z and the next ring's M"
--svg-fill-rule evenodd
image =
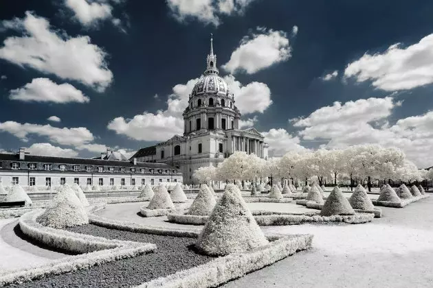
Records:
M225 288L433 287L433 197L362 225L274 226L267 232L311 233L313 248Z

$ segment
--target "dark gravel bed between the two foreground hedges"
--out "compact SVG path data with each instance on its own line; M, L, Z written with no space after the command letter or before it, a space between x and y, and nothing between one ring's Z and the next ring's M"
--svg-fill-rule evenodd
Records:
M192 252L188 248L195 242L192 238L147 235L91 224L68 230L109 239L155 243L157 252L10 287L131 287L213 259Z

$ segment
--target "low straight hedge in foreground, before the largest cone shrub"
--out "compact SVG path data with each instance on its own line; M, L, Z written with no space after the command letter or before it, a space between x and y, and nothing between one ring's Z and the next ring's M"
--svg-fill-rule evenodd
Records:
M272 235L267 238L271 242L263 247L219 257L206 264L143 283L137 288L216 287L311 248L313 235Z

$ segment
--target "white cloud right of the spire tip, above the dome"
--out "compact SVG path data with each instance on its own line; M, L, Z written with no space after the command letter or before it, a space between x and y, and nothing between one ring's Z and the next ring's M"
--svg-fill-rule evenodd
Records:
M245 71L248 74L256 73L278 62L291 57L291 47L287 34L258 27L259 34L245 36L239 47L230 56L230 60L222 67L225 71L235 73Z

